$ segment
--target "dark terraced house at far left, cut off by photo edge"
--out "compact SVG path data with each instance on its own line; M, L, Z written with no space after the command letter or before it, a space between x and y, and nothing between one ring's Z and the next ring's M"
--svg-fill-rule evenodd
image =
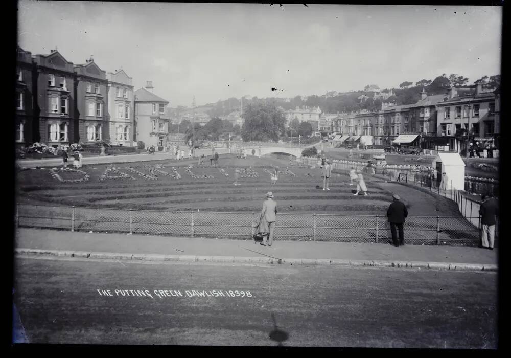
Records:
M17 48L16 66L16 136L17 146L32 143L33 138L33 85L32 85L32 54ZM39 131L36 130L38 134Z

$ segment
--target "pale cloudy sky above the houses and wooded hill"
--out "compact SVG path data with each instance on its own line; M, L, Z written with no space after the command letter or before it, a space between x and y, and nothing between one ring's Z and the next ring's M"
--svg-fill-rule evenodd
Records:
M500 74L502 8L20 0L18 44L90 55L169 106ZM276 88L272 91L271 88Z

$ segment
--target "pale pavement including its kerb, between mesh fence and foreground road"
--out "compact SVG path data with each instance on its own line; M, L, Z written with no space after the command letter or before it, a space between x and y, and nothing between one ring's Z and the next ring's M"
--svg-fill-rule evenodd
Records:
M406 239L405 239L406 242ZM237 264L349 265L497 271L498 249L472 247L249 239L205 239L18 228L16 255Z

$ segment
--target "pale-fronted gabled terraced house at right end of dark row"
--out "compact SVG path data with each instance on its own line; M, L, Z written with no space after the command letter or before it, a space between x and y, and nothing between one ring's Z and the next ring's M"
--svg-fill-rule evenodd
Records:
M124 70L108 73L108 117L110 143L133 146L133 85Z

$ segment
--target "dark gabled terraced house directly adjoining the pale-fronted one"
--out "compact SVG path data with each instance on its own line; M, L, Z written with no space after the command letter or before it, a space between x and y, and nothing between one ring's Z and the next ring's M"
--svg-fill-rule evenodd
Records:
M85 64L75 65L75 141L91 144L110 137L108 120L108 80L106 72L92 56Z

